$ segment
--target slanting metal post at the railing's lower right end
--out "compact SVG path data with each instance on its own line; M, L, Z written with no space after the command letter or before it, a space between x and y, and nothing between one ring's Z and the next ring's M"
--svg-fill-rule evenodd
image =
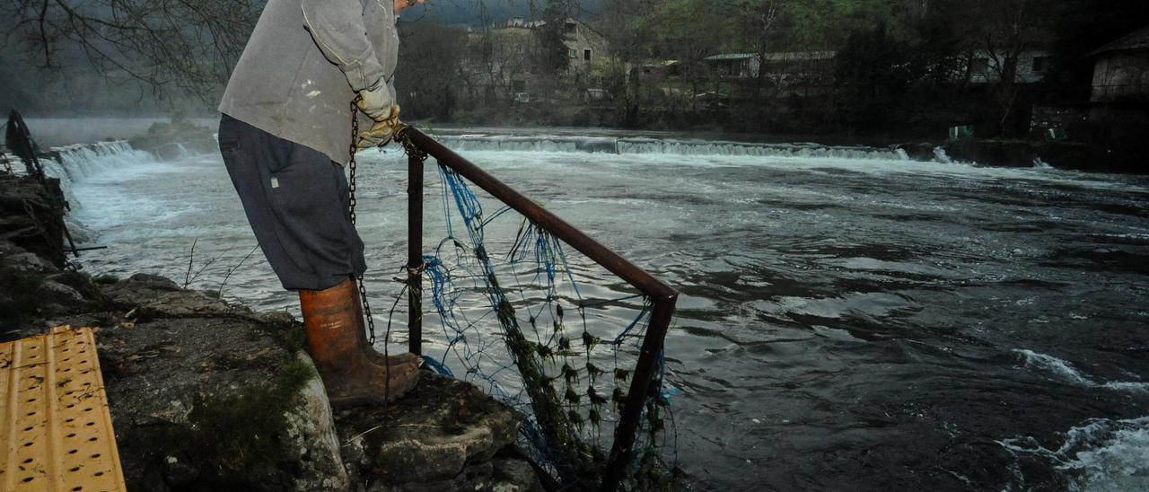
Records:
M615 444L610 448L607 469L602 474L602 491L614 492L617 490L618 483L623 478L623 471L631 462L634 435L639 429L642 407L650 391L650 380L658 366L658 355L662 353L666 330L670 329L670 318L674 314L676 302L678 302L678 294L654 299L650 324L642 339L642 351L639 354L639 362L634 367L634 377L631 379L631 391L626 394L626 403L618 418L618 426L615 428Z

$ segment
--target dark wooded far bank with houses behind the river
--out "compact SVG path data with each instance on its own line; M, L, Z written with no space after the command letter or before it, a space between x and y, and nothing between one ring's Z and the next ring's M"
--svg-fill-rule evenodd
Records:
M0 53L0 83L13 89L0 102L211 113L262 7L70 3L3 8L0 26L21 43ZM902 139L969 126L1019 138L1050 130L1035 117L1051 107L1088 114L1096 51L1149 23L1136 0L476 3L462 18L432 3L400 20L408 120ZM20 67L57 71L41 84ZM134 91L77 91L102 78ZM1052 134L1113 140L1129 126L1072 123Z

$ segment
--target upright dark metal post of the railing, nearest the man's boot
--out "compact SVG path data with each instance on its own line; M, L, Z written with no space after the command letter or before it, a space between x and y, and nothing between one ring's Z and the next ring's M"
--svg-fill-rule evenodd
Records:
M407 333L408 351L423 355L423 159L407 157Z

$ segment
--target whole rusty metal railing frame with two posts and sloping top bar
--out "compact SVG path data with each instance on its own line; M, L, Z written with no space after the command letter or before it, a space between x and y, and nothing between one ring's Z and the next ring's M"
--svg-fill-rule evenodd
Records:
M407 283L408 301L410 303L408 323L410 330L409 344L412 353L422 354L423 352L423 161L429 155L434 157L440 164L457 172L487 193L491 193L492 197L504 205L523 214L534 225L546 230L608 271L617 275L650 299L649 325L646 337L642 340L638 364L634 368L634 377L631 379L631 387L626 394L620 418L615 428L614 444L611 445L610 454L607 456L607 466L601 482L602 490L616 490L623 478L622 474L632 456L632 447L634 446L639 420L641 418L643 403L650 391L651 379L657 369L658 356L663 348L663 341L666 338L666 330L674 313L678 291L647 274L641 268L635 267L630 261L626 261L626 259L599 244L573 225L558 218L558 216L547 212L524 194L507 186L422 131L407 126L399 133L399 140L409 141L416 151L410 152L409 149L407 189Z

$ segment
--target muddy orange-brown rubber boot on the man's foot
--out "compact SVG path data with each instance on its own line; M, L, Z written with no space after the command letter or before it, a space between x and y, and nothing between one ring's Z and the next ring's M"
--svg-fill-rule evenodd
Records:
M361 341L363 318L355 315L357 294L350 278L322 291L299 291L307 351L337 408L394 401L419 378L414 362L388 366L368 358Z

